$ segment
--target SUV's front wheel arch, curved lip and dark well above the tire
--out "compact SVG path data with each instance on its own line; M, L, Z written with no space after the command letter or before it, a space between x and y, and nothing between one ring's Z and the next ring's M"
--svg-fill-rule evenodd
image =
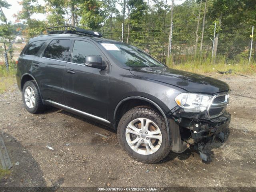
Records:
M162 116L164 117L164 120L165 120L165 123L166 123L166 128L167 128L167 132L168 132L168 140L170 141L170 130L169 130L169 123L168 123L168 119L166 117L166 114L164 112L164 110L154 101L148 99L148 98L145 98L145 97L142 97L142 96L130 96L130 97L127 97L127 98L124 98L123 100L121 100L115 110L114 110L114 123L116 124L115 128L117 127L118 125L118 122L120 120L120 118L122 117L122 113L120 113L120 116L118 116L118 112L120 112L120 110L122 110L122 108L125 107L125 105L127 103L131 103L132 101L140 101L140 105L143 106L145 105L146 103L149 104L149 106L152 106L153 108L155 108L156 110L158 110L158 112L160 112L160 114L162 114ZM138 104L133 104L131 106L140 106ZM128 109L129 110L129 109ZM126 110L127 111L127 110Z

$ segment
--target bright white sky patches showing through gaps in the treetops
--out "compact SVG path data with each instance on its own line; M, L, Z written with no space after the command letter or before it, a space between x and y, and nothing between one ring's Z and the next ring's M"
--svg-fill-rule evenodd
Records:
M10 9L3 8L3 12L7 18L7 21L11 21L13 24L15 23L15 18L13 17L13 14L17 14L22 9L22 6L18 4L19 1L21 0L7 0L7 2L12 6L10 7ZM175 0L174 4L182 4L184 1L185 0ZM38 0L38 2L42 5L45 4L44 0ZM152 3L152 0L150 1L150 3ZM171 0L167 0L167 4L170 5L171 3ZM118 8L118 10L121 10L121 6L119 4L117 4L116 7ZM34 14L33 16L31 16L31 18L45 20L46 16L47 14Z

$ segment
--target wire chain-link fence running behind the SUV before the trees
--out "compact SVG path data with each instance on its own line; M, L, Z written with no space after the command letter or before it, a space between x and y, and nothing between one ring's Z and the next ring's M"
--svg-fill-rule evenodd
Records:
M214 38L214 27L208 26L204 29L202 50L200 49L202 40L202 28L198 28L198 43L196 44L197 26L176 26L173 24L171 61L173 64L184 64L194 62L203 64L205 62L222 62L223 64L248 64L256 62L256 43L252 42L252 26L221 27L216 30ZM138 46L158 60L166 63L170 26L147 26L146 28L124 26L122 24L97 30L101 32L103 38L123 41ZM6 38L0 34L0 64L6 64L4 55L8 46L8 61L13 63L29 38L40 35L28 36L25 31L20 34L8 34ZM215 49L213 43L216 45ZM4 48L6 44L6 49ZM212 54L215 52L214 54ZM251 54L251 56L250 56ZM212 58L213 57L213 58Z

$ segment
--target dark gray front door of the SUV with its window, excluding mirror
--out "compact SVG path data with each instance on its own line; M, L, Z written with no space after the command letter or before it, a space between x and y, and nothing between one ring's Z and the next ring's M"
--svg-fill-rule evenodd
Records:
M107 64L106 57L93 42L75 40L64 72L65 105L106 118L109 70L85 66L86 56L101 56Z

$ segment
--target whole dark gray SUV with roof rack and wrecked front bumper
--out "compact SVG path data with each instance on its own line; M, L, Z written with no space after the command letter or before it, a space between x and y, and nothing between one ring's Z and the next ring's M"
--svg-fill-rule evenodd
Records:
M50 105L117 130L136 160L154 163L192 144L204 148L230 122L229 86L220 80L168 68L134 46L71 27L48 28L30 39L18 60L25 108Z

